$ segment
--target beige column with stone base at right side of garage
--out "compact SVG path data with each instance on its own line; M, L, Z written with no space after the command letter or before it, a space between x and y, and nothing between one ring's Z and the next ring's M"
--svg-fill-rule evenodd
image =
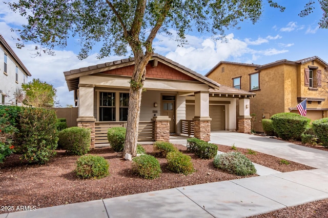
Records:
M238 132L251 132L250 99L239 99Z

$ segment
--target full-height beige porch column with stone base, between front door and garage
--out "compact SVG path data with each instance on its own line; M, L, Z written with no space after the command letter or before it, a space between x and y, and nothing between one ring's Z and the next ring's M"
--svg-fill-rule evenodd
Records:
M208 91L195 92L194 137L204 141L211 138L210 96Z

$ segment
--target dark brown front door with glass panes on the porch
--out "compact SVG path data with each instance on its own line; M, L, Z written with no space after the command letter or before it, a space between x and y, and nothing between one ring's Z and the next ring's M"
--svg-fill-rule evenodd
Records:
M163 116L169 116L170 133L175 133L175 96L162 96L162 113Z

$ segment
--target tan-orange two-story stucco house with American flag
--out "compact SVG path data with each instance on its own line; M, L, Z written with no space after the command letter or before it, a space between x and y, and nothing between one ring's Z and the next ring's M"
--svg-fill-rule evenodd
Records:
M206 75L220 84L250 90L251 113L256 115L254 130L262 132L261 119L281 112L298 113L296 106L307 99L306 117L327 117L327 92L322 82L328 64L317 56L279 60L265 65L221 61Z

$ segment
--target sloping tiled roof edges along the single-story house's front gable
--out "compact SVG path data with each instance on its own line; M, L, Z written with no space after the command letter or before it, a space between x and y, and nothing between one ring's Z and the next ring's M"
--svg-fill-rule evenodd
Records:
M194 78L197 81L200 81L202 83L205 83L209 85L211 88L218 89L220 87L220 84L215 82L214 80L211 80L207 77L202 76L201 74L198 74L197 72L182 66L178 64L177 62L174 62L164 56L154 54L151 60L158 60L159 62L166 64L183 74L186 74L192 78ZM79 83L79 77L81 76L88 76L88 75L93 75L97 74L99 72L105 72L111 69L116 69L120 67L125 67L125 66L130 66L134 65L134 58L126 58L126 59L121 59L118 61L112 61L112 62L107 62L104 64L98 64L98 65L93 65L93 66L88 66L88 67L82 67L79 69L73 69L70 71L65 71L65 79L67 82L68 89L75 90L78 88L78 83Z

